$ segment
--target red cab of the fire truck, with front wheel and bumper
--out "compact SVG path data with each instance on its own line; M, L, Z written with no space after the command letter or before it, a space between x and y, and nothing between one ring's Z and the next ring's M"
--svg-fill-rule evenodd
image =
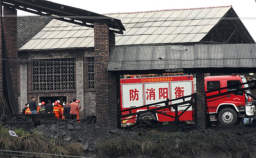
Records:
M204 90L209 91L246 82L246 78L240 75L208 76L204 78ZM231 87L221 90L221 93L246 87L248 87L247 84ZM250 93L250 91L247 92ZM218 91L210 92L207 93L207 96L218 93ZM223 125L234 125L239 117L253 115L252 98L243 92L219 96L210 100L212 101L207 100L207 105L211 121L219 120Z

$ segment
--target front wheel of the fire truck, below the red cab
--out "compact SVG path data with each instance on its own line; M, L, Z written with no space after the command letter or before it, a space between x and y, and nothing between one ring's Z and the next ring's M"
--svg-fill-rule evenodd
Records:
M219 122L223 125L234 125L237 122L237 118L237 112L232 108L224 108L219 112Z

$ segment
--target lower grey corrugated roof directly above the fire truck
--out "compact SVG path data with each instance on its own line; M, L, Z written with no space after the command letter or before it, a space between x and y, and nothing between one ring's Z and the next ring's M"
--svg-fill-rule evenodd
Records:
M161 56L165 58L159 59ZM115 46L110 48L108 64L109 71L254 67L256 43Z

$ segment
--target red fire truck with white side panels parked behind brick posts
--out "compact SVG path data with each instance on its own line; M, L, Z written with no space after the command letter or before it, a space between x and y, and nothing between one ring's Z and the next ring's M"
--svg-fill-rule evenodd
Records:
M218 89L222 87L232 86L239 83L245 83L246 79L240 75L230 76L209 76L205 77L205 91ZM126 78L120 79L120 108L125 110L128 108L138 107L151 103L157 103L160 101L166 101L166 99L176 99L182 96L190 95L196 92L196 78L193 76L169 76L169 77L147 77L147 78ZM247 84L238 87L223 89L221 92L227 92L238 88L246 88ZM218 93L207 93L207 96ZM185 101L191 98L186 98ZM219 120L224 125L233 125L237 122L238 117L244 117L245 115L253 115L254 105L252 105L252 99L243 92L238 94L230 94L227 96L219 96L213 101L208 102L209 114L211 121ZM180 103L182 100L176 100L170 102L170 104ZM150 109L164 106L165 104L159 104L150 106ZM187 106L178 107L178 114L186 109ZM147 108L139 108L131 110L132 113L147 110ZM174 108L163 109L160 112L166 113L171 116L175 116ZM190 107L179 119L192 120L192 108ZM129 111L122 112L122 115L128 114ZM130 116L129 120L123 120L122 123L134 123L136 118L141 119L154 119L160 122L174 121L174 118L161 115L159 113L153 114L146 112L140 116ZM132 119L134 118L134 119Z

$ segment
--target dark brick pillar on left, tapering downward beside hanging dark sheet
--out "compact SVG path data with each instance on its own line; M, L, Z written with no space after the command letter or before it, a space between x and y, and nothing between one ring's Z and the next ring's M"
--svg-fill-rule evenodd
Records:
M10 71L12 77L12 86L15 98L16 109L19 111L18 104L18 52L17 52L17 10L4 7L3 26L6 39ZM11 16L10 16L11 15Z

